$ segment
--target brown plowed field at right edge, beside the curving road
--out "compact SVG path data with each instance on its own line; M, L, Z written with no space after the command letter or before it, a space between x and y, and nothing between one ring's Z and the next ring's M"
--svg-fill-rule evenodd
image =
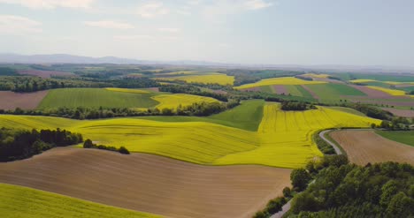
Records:
M368 162L408 162L414 164L414 147L385 139L372 131L337 131L330 136L359 165Z

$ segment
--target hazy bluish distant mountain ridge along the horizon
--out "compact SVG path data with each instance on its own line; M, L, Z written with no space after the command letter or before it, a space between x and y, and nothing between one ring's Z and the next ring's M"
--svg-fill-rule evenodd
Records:
M194 66L215 66L222 68L255 68L255 69L279 69L291 71L321 71L321 72L395 72L414 73L411 66L357 66L340 64L226 64L206 61L150 61L132 58L120 58L116 56L73 56L67 54L53 55L19 55L0 53L0 64L164 64L164 65L194 65Z

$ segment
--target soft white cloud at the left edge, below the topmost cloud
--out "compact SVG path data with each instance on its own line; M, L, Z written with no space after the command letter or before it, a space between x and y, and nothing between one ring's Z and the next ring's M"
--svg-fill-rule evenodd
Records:
M42 23L25 17L0 15L0 34L40 33Z

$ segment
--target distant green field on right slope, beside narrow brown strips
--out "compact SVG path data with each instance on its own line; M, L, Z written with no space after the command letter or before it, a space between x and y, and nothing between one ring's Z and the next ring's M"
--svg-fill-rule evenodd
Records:
M318 84L318 85L306 85L322 100L338 99L341 95L349 96L365 96L363 92L344 84Z

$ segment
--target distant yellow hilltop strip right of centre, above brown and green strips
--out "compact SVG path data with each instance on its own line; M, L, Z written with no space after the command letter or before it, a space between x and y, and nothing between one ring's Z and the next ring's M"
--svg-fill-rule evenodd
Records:
M308 84L325 84L324 81L308 81L303 79L297 79L294 77L281 77L281 78L271 78L271 79L262 79L256 83L249 83L242 86L236 86L236 89L245 89L257 86L272 86L272 85L308 85Z

